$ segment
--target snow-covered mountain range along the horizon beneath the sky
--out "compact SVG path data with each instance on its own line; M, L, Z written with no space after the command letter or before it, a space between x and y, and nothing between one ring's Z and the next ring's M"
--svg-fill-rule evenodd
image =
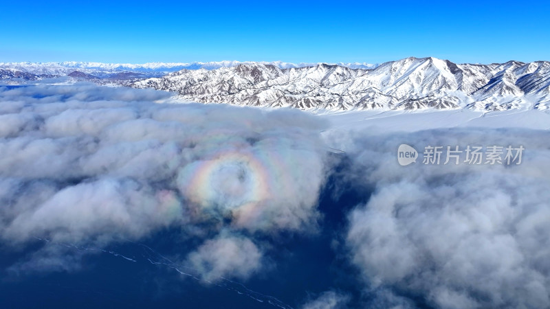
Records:
M382 65L236 61L146 65L0 63L0 77L4 79L42 76L108 81L173 91L182 100L192 102L243 106L485 111L550 107L548 61L472 65L410 57Z

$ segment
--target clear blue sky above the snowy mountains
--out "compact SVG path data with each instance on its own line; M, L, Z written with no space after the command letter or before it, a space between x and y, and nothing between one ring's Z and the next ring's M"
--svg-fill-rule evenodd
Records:
M5 1L0 62L550 60L543 1Z

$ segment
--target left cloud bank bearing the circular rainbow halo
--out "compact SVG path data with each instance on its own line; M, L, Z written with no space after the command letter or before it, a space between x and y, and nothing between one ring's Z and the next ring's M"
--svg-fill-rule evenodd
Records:
M1 240L101 246L164 227L206 229L213 239L190 261L212 279L246 277L261 264L256 244L232 233L315 227L324 122L297 111L155 103L168 95L0 87Z

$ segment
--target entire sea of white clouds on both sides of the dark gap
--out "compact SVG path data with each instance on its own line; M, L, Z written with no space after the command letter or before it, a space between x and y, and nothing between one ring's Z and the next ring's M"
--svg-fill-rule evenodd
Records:
M373 191L351 207L333 247L360 273L364 306L550 306L547 130L331 131L300 111L169 97L91 84L0 87L4 250L36 238L101 248L181 229L198 240L182 260L204 282L246 280L276 263L281 233L323 229L318 200L336 175L336 192ZM404 167L399 144L526 150L520 165ZM78 255L46 244L10 270L81 267ZM351 295L334 289L303 307L346 308Z

